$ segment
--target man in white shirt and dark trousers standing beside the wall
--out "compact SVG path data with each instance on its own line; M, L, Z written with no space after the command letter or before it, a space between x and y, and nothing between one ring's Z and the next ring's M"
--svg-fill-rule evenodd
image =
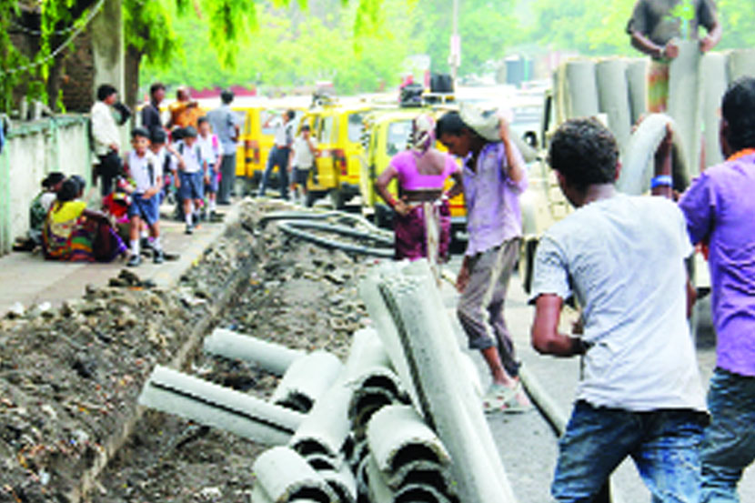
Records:
M115 87L103 84L97 88L97 101L90 112L94 149L99 165L96 177L100 180L100 194L104 197L113 192L113 180L121 171L121 140L112 106L116 104L118 92Z

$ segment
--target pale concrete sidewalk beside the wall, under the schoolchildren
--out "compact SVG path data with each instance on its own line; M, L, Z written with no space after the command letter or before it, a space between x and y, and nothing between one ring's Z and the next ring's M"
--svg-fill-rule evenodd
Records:
M207 246L223 235L227 226L237 222L240 206L240 199L232 206L220 206L218 210L225 214L224 221L203 222L191 236L184 234L182 222L161 220L163 248L179 254L180 258L161 265L145 259L141 266L129 267L129 270L144 280L151 279L157 287L172 285L202 256ZM55 262L28 252L0 257L0 316L5 316L17 302L28 308L44 302L58 306L66 299L79 298L85 293L86 285L104 287L125 267L126 263L121 260L109 264Z

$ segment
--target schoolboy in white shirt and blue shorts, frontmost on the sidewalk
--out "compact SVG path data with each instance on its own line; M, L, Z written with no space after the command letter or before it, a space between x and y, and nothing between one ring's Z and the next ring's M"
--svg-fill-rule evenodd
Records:
M128 237L131 257L126 265L136 267L142 263L139 255L139 238L142 222L149 227L152 235L153 260L162 264L165 260L163 248L160 244L160 199L163 188L163 166L158 162L155 154L150 150L150 135L143 127L137 127L131 132L131 146L133 150L126 155L124 166L132 184L124 186L124 190L131 195L128 206Z

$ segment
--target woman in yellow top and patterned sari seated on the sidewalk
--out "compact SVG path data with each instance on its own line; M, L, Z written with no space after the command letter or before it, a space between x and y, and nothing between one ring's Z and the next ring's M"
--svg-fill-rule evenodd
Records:
M76 200L79 186L67 179L57 192L43 227L45 258L70 262L110 262L126 255L126 246L102 213Z

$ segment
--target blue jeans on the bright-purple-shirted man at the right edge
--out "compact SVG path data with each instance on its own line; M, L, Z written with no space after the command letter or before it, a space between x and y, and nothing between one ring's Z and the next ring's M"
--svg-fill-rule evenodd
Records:
M703 503L739 501L737 484L755 459L755 377L716 368L708 391L710 426L702 444Z

